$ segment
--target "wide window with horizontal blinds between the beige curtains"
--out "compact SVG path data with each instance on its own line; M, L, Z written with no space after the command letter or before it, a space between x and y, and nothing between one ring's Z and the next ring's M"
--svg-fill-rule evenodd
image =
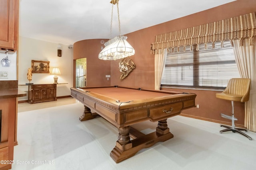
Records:
M161 86L184 87L184 88L204 88L204 89L224 89L230 78L239 78L240 74L236 65L234 50L230 41L215 42L196 45L193 51L186 46L186 51L167 53L164 74ZM182 49L182 48L180 48ZM187 52L188 51L188 52Z

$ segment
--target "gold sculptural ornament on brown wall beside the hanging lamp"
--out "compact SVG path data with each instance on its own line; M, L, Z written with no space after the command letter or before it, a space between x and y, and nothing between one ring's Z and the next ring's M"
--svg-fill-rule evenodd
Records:
M124 79L135 68L135 64L129 57L122 59L119 62L119 71L122 72L120 78Z

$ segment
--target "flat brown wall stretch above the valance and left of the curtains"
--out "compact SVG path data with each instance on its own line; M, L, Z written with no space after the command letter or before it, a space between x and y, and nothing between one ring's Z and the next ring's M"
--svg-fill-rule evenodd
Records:
M135 49L135 55L130 58L136 64L136 68L124 80L121 80L118 70L119 61L112 61L111 85L118 84L154 89L154 55L150 54L150 46L155 41L156 35L248 14L250 12L256 12L256 0L237 0L216 8L126 34L128 37L127 41Z

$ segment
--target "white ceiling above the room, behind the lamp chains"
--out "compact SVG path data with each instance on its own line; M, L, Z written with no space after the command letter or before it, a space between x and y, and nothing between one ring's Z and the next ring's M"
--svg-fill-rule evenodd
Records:
M234 0L120 0L121 34L214 8ZM20 36L73 45L109 39L110 0L20 0ZM114 5L112 36L119 35Z

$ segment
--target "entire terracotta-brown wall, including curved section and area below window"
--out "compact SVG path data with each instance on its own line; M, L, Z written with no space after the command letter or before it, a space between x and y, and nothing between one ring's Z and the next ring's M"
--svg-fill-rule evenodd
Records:
M135 49L135 55L130 57L130 59L134 61L136 68L124 80L120 79L120 72L118 68L118 63L120 61L109 62L98 60L98 53L100 52L101 45L100 40L84 40L75 43L74 59L82 58L84 56L88 57L88 86L104 86L110 84L154 89L154 55L150 54L150 45L154 42L156 35L248 14L250 12L256 12L256 0L236 0L216 8L211 8L176 20L128 33L127 41ZM172 12L169 13L170 15L172 14ZM86 55L86 53L90 53L90 55ZM99 75L104 74L105 76L105 72L111 74L110 82L107 82L106 79L104 80L104 78ZM96 83L95 81L98 82ZM191 92L197 94L196 104L200 104L200 109L192 108L183 111L182 114L186 116L220 123L223 121L226 124L230 122L229 120L220 117L220 113L230 113L231 103L222 99L217 99L215 94L218 93L218 91L184 89L164 90ZM243 126L244 104L235 102L235 105L235 115L238 118L236 124Z

